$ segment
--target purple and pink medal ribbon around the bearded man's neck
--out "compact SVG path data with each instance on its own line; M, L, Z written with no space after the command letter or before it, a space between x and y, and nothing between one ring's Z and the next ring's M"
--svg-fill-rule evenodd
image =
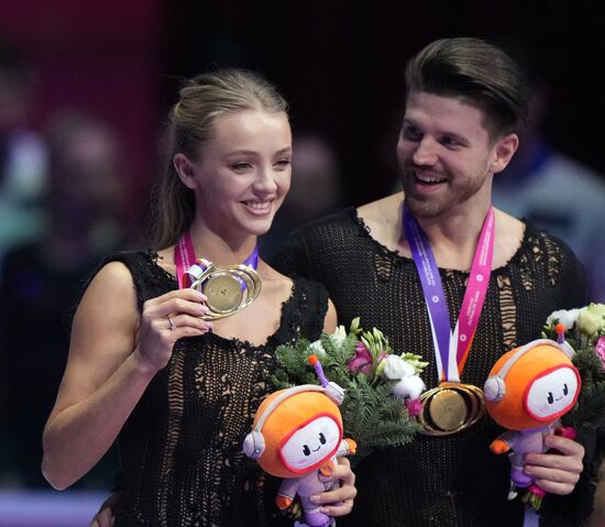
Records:
M490 207L473 256L460 315L452 332L446 292L429 240L418 220L404 209L404 229L422 285L437 359L437 372L441 381L459 383L469 356L492 274L494 224L494 209Z

